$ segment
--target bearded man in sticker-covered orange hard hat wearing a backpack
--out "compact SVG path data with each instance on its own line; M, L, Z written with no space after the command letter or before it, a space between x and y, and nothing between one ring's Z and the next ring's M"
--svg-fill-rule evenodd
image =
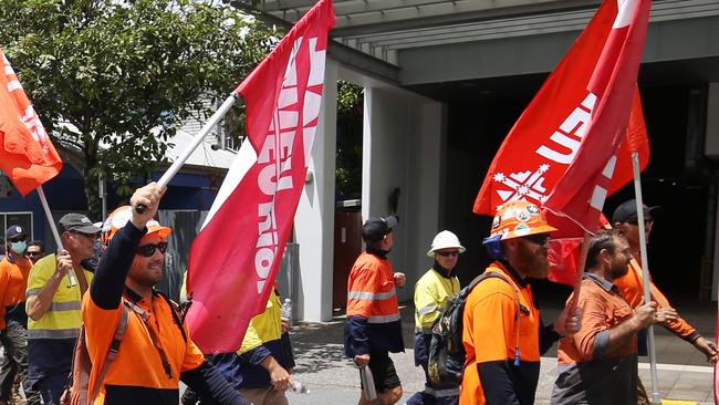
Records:
M510 201L498 208L484 240L497 259L486 272L494 277L478 283L465 303L460 404L533 404L541 353L580 329L573 309L543 326L528 283L548 277L549 232L554 230L534 204Z

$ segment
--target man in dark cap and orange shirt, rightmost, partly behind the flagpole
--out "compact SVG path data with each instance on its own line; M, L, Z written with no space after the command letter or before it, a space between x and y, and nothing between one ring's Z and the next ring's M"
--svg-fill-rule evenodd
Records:
M647 207L644 206L644 228L646 231L647 242L649 233L654 226L655 216L661 212L661 207ZM629 303L632 308L639 305L644 299L644 282L642 272L642 255L639 251L639 224L637 221L637 205L636 200L631 199L622 202L612 215L612 225L618 229L622 235L629 242L629 250L632 252L632 261L629 262L629 271L618 278L614 283L622 291L622 295ZM658 288L650 283L652 300L658 303L658 308L669 309L671 304L669 300L659 291ZM715 342L705 339L697 330L687 321L679 316L675 321L663 323L675 335L691 343L699 352L707 356L707 361L711 363L717 362L717 345ZM639 355L647 355L647 333L646 330L637 334L637 346ZM642 381L637 380L639 390L639 404L648 404L649 399L642 385Z

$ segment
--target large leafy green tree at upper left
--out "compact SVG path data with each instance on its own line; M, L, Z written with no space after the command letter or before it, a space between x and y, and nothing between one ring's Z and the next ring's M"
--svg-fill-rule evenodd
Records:
M219 1L0 0L0 45L55 146L81 156L93 218L98 175L127 195L181 123L209 116L278 35Z

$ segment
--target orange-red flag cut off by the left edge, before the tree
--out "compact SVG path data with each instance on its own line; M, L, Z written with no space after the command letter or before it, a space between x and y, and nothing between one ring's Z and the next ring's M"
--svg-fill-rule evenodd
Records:
M62 159L0 48L0 169L24 196L55 177Z

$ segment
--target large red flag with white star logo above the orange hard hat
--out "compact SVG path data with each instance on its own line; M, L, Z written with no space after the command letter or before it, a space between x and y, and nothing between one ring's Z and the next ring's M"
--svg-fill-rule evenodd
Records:
M596 230L604 197L632 179L629 155L617 150L627 149L627 133L646 139L636 77L649 6L601 6L502 143L475 212L493 215L507 201L527 199L571 219L550 216L560 235L577 236L576 225ZM627 131L631 113L642 118ZM648 143L639 144L645 166Z

